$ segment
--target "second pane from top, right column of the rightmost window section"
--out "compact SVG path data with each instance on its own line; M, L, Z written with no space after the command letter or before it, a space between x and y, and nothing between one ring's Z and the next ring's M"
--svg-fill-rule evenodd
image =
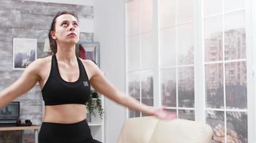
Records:
M225 15L225 60L246 58L244 11Z

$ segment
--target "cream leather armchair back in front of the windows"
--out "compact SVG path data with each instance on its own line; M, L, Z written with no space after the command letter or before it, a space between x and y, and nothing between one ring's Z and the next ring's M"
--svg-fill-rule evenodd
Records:
M209 125L186 119L136 117L124 123L117 143L209 143L212 134Z

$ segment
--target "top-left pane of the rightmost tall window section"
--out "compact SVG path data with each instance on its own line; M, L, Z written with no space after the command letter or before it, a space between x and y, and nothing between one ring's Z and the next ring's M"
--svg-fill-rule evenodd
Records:
M221 14L222 0L205 0L204 1L204 15L210 16L212 14Z

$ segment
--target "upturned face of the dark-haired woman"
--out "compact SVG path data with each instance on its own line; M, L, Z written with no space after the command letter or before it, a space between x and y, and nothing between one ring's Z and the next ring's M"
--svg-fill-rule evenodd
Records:
M52 31L51 35L57 44L76 44L80 37L78 20L70 14L58 16L55 23L55 31Z

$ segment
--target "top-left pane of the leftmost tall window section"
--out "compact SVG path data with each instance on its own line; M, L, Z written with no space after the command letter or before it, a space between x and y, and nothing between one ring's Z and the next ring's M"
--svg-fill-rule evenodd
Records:
M127 35L140 33L139 0L127 1Z

